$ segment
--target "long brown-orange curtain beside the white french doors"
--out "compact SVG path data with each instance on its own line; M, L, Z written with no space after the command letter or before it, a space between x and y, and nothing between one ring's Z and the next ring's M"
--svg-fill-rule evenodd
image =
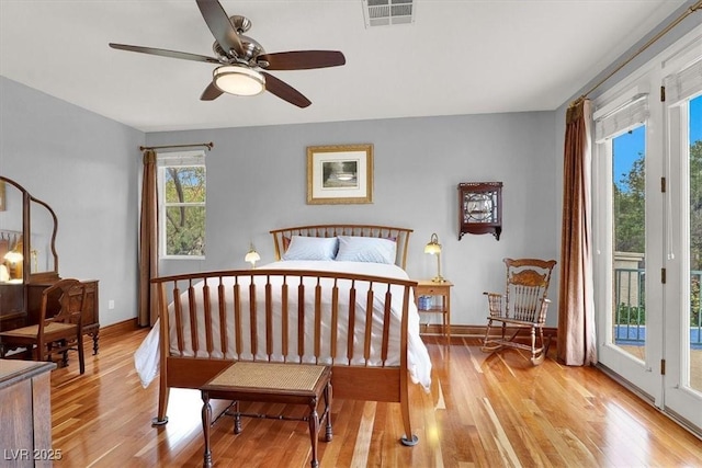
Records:
M597 363L590 209L590 101L566 114L563 168L558 359L566 365Z

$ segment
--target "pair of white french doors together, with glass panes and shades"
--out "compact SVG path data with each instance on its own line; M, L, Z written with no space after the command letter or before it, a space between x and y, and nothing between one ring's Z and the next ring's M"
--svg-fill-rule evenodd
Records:
M702 26L681 44L596 101L598 358L702 434Z

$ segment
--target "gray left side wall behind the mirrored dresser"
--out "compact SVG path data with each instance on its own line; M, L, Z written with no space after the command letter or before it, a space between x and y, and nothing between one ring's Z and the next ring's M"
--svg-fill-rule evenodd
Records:
M141 132L0 77L0 173L56 212L59 273L100 279L103 326L136 317L144 140Z

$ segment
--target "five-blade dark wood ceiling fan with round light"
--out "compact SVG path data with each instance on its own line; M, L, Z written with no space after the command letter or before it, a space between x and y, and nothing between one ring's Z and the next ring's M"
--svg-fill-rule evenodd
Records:
M200 96L202 101L213 101L223 93L254 95L269 91L291 104L307 107L312 104L307 98L267 70L309 70L346 64L343 54L337 50L267 54L258 42L244 35L251 27L249 19L239 15L229 18L217 0L195 1L207 27L215 36L212 48L216 57L126 44L110 43L110 47L218 65L214 69L212 82Z

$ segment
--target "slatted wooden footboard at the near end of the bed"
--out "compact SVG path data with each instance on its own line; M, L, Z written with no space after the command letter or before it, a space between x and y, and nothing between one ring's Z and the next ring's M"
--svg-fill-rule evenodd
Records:
M159 285L160 392L200 388L233 361L332 366L335 397L408 401L408 330L416 282L321 271L245 270L152 279ZM418 330L418 324L417 324Z

